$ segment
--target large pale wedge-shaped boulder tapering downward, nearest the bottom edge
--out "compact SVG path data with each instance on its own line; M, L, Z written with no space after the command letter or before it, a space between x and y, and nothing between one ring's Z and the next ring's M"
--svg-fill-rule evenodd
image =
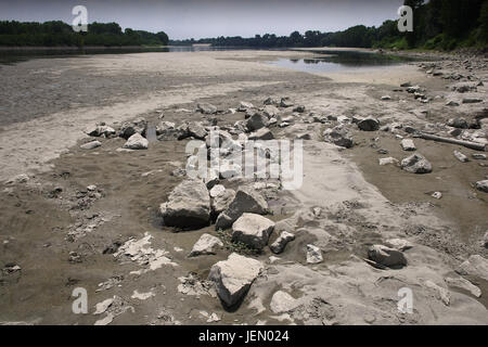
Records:
M219 298L230 307L243 299L262 268L260 261L232 253L211 267L208 280L215 282Z

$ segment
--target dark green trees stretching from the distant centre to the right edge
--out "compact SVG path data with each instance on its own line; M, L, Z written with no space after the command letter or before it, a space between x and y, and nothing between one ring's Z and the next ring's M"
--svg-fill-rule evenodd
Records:
M170 44L211 43L218 47L355 47L387 49L453 50L488 48L488 0L406 0L413 9L413 33L400 33L397 21L380 27L358 25L343 31L308 30L290 36L266 34L254 38L218 37L171 40Z

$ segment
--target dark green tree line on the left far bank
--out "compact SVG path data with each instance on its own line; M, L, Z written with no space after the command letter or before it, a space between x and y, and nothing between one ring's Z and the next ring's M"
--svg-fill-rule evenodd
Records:
M0 21L0 46L9 47L167 46L168 41L164 31L153 34L130 28L123 31L117 23L95 22L88 25L88 33L75 33L61 21Z

